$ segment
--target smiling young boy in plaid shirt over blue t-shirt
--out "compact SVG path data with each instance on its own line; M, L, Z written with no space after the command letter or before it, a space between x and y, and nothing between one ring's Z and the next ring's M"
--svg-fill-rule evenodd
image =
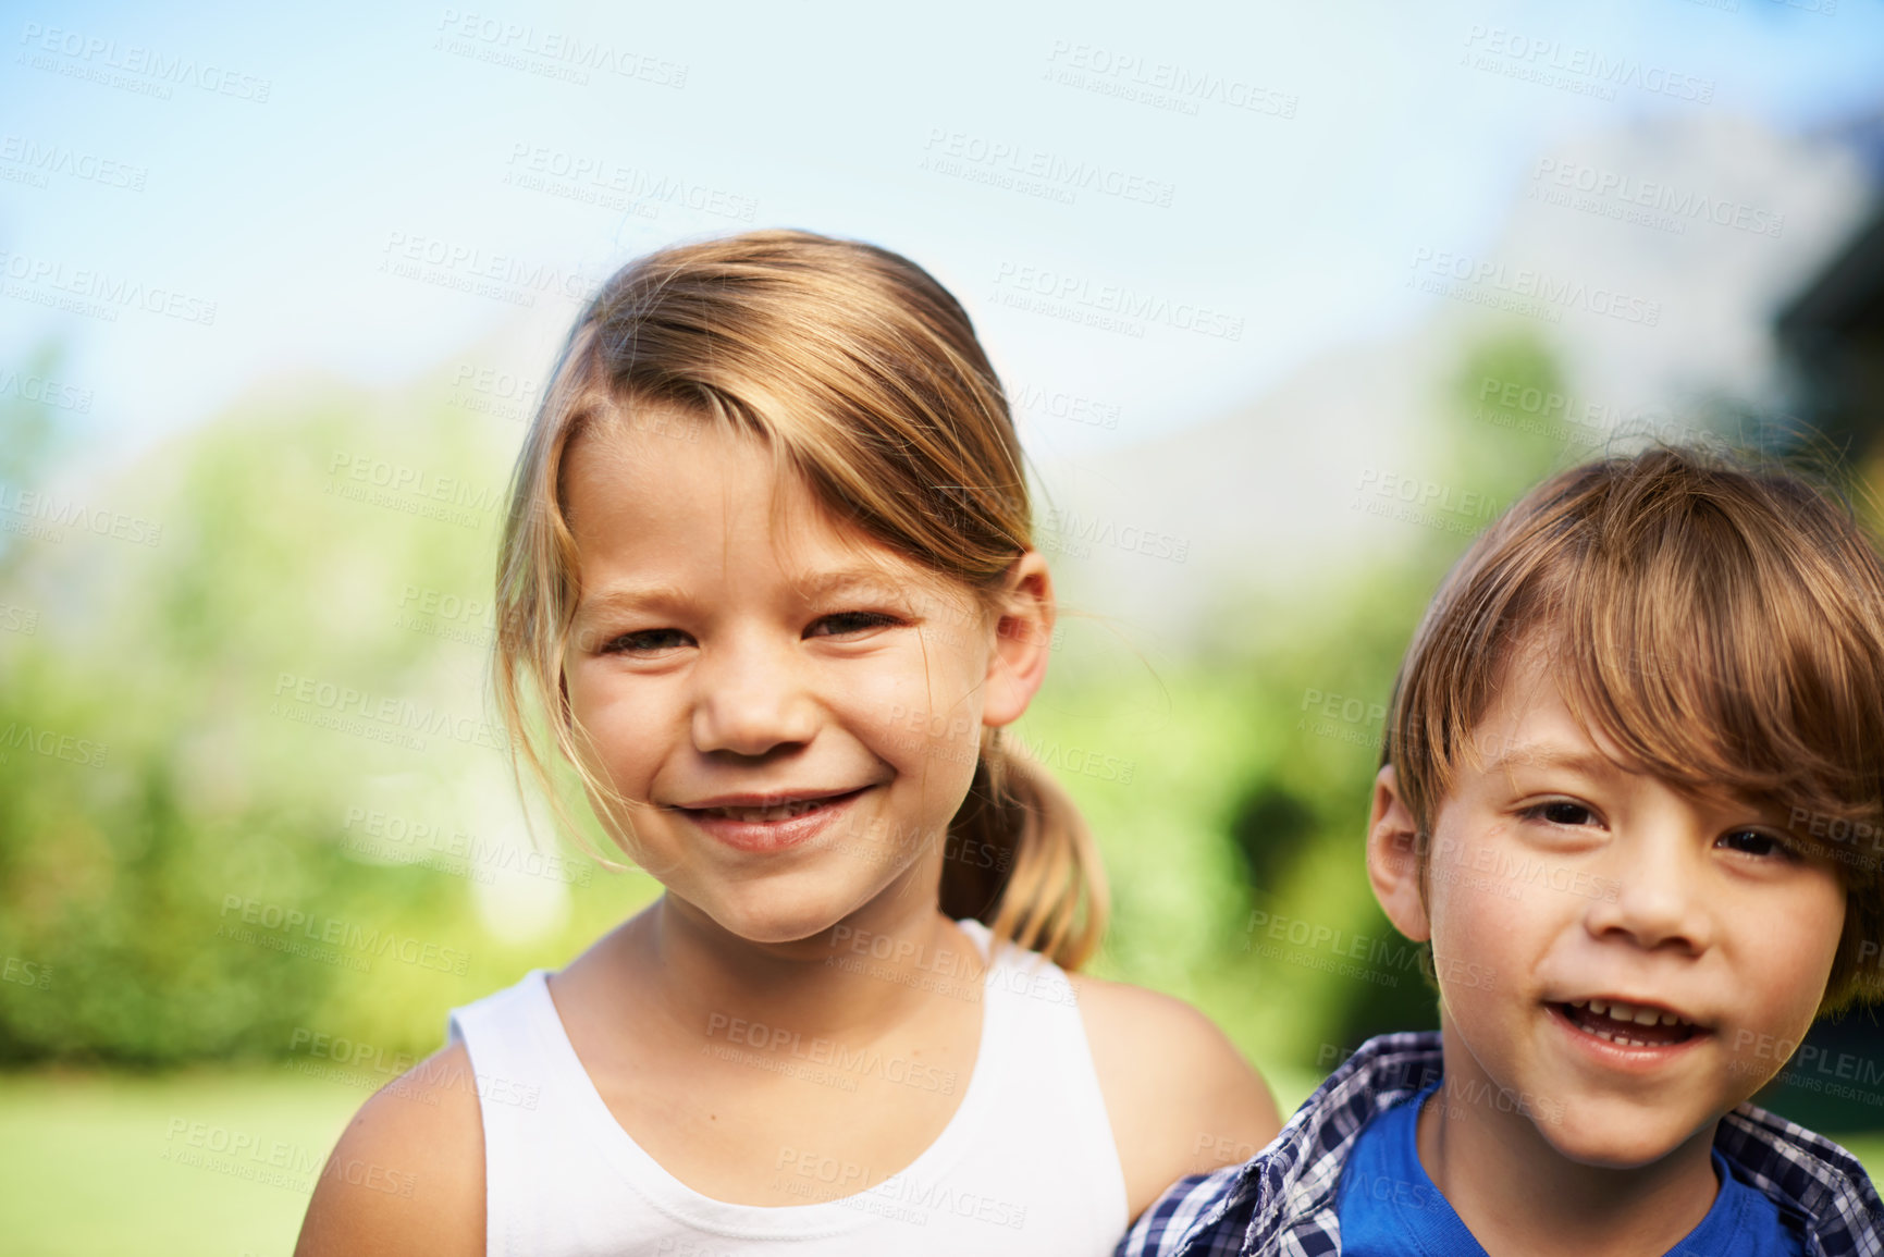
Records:
M1654 449L1483 535L1394 686L1368 876L1437 1033L1368 1040L1138 1257L1884 1251L1837 1144L1746 1102L1878 993L1884 569L1784 473Z

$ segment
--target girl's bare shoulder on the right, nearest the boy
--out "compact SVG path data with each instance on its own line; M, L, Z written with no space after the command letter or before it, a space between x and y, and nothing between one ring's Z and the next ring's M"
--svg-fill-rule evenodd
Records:
M1132 1217L1185 1174L1247 1161L1281 1131L1262 1074L1202 1012L1140 986L1068 978Z

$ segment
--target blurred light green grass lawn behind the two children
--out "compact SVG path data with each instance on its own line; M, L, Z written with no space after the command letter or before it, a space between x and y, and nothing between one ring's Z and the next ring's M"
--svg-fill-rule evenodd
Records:
M1321 1082L1272 1070L1283 1112ZM21 1257L264 1257L365 1089L288 1070L0 1074L0 1219ZM1839 1138L1878 1174L1884 1133Z

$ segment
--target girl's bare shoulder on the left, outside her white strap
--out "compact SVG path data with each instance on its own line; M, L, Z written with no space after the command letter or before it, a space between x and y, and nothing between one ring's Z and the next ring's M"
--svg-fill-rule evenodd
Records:
M484 1251L484 1127L454 1042L381 1087L307 1202L296 1257Z

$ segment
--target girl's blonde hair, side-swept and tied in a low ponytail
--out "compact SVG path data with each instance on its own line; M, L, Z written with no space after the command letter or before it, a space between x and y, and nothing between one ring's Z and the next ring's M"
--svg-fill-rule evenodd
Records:
M1019 439L968 315L919 266L808 232L678 245L616 271L577 318L511 481L497 552L495 697L558 818L541 703L592 795L561 680L578 599L563 458L582 432L674 413L761 437L840 526L966 584L985 614L1032 548ZM678 433L684 437L684 433ZM573 827L573 825L571 825ZM983 729L944 844L940 906L1074 969L1106 884L1072 799Z

